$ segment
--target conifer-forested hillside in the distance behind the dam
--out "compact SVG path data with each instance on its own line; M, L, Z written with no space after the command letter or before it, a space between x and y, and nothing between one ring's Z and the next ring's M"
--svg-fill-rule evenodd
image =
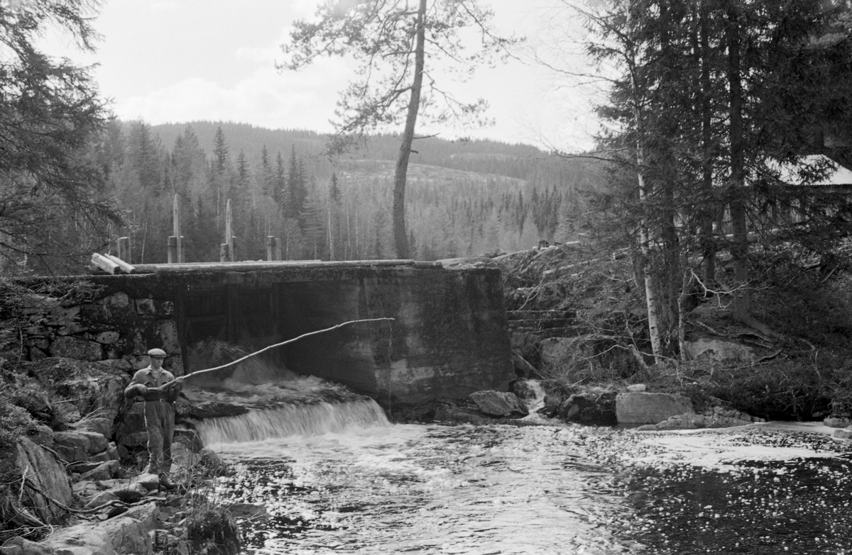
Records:
M219 259L227 200L238 260L266 257L279 237L285 260L393 258L390 193L395 135L345 157L325 156L312 131L241 123L112 122L95 157L129 227L134 263L166 260L172 202L180 197L187 261ZM580 231L595 163L488 140L417 141L406 211L412 253L435 260L567 241Z

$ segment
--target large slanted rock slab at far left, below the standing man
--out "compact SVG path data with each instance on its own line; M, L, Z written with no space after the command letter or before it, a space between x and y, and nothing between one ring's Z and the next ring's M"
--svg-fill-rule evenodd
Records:
M55 499L65 506L72 504L71 482L55 455L32 443L29 439L19 438L17 457L13 461L15 476L24 476L28 483L44 492L44 495L30 488L20 489L24 506L46 524L59 524L66 512L46 498Z

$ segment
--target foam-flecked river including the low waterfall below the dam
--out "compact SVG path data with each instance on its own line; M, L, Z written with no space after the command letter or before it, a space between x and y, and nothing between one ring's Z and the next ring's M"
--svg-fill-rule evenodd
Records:
M365 402L201 432L237 468L218 501L264 508L245 553L852 553L849 447L807 428L391 425Z

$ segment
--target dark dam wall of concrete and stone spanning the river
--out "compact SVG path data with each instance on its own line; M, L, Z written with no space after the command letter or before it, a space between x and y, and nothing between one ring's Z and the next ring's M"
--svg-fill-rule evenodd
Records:
M394 318L260 356L268 367L343 383L386 407L506 391L515 377L496 268L379 260L139 270L147 273L85 278L93 295L27 327L29 358L101 360L130 371L158 346L170 354L166 366L184 374L209 367L210 340L255 352L343 322Z

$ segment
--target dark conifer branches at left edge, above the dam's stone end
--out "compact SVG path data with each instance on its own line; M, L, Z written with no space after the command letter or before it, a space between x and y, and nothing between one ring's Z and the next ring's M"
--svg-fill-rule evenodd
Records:
M60 270L119 221L93 141L107 121L87 68L33 44L47 26L92 50L92 3L0 4L0 255L3 273Z

